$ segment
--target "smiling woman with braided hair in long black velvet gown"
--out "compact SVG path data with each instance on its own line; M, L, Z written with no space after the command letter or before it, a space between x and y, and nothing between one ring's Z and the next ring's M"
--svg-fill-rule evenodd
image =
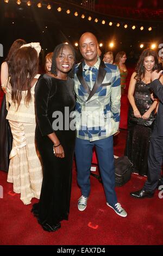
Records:
M74 50L58 45L52 59L52 75L42 75L35 87L36 144L43 166L43 181L34 216L46 231L68 220L71 195L75 130L70 129L70 113L75 106ZM53 153L54 150L54 153Z

